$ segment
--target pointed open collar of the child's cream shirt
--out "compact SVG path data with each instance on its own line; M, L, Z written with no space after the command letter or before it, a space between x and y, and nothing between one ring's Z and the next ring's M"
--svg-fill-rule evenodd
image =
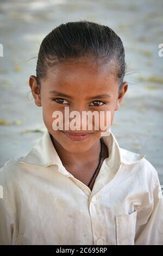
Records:
M111 131L110 135L103 136L102 140L109 150L109 157L106 159L106 164L108 164L111 169L117 169L122 163L133 164L146 156L120 148ZM32 150L30 150L26 156L21 157L21 162L32 166L47 167L51 164L62 166L60 157L53 146L50 133L47 129L39 142L34 145Z

